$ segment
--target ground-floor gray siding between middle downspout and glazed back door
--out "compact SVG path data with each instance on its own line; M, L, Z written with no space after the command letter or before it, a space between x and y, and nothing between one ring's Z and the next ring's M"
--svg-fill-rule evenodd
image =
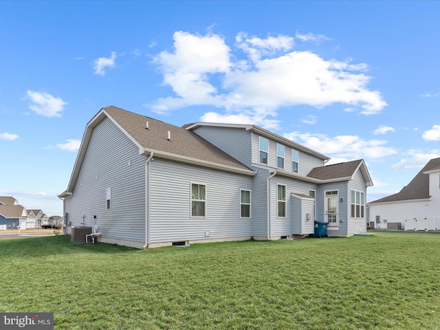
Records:
M278 184L286 186L286 217L278 218ZM301 195L309 195L309 190L318 190L318 186L316 184L310 184L305 181L300 181L296 179L290 179L288 177L275 176L272 177L270 181L270 214L271 214L271 236L285 236L290 234L299 234L298 232L294 232L295 223L293 214L297 214L299 212L300 216L297 219L302 219L305 221L305 214L310 213L313 214L313 201L309 201L309 204L301 205L302 210L297 210L296 204L292 203L294 199L291 198L292 193L301 194ZM308 225L310 223L310 225ZM313 233L313 229L310 231L310 228L313 228L313 217L309 221L307 221L307 225L303 230L309 231L307 233ZM303 233L301 233L303 234Z

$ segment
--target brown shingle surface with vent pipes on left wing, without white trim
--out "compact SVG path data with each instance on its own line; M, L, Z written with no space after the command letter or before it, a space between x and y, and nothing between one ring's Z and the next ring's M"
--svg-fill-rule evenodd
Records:
M111 118L144 148L250 170L248 166L221 151L217 146L183 127L167 124L118 107L110 106L103 110L109 113ZM148 129L145 128L146 122L148 122ZM169 141L167 140L168 131L170 132Z

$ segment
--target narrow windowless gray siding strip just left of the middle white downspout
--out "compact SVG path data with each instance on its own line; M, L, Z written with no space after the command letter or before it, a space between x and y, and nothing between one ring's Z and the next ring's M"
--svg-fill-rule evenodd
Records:
M252 168L257 174L252 182L252 236L267 237L267 178L268 170Z

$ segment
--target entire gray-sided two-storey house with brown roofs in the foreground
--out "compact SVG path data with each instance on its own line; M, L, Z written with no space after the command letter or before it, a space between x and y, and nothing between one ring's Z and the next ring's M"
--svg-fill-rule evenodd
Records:
M64 200L67 232L153 248L366 230L364 161L329 157L255 125L166 124L117 107L87 124Z

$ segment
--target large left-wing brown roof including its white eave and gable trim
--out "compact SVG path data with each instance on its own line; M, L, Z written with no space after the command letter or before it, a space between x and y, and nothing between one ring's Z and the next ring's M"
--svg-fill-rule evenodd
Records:
M151 155L153 153L154 157L173 159L177 162L218 168L245 175L256 175L254 170L192 131L118 107L109 106L102 108L87 124L69 187L60 197L66 197L73 191L74 186L72 184L78 177L91 133L105 118L109 118L129 137L139 148L141 155ZM148 129L146 128L147 122ZM168 132L170 134L169 140Z

